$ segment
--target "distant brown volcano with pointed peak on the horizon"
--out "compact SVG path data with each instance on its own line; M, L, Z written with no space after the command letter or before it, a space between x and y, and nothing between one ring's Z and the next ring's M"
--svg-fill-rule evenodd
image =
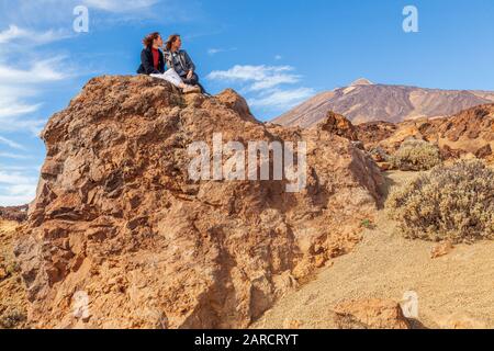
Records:
M273 123L310 127L323 120L328 111L345 115L353 124L398 123L420 117L445 117L492 102L494 92L373 84L359 79L349 87L317 94Z

